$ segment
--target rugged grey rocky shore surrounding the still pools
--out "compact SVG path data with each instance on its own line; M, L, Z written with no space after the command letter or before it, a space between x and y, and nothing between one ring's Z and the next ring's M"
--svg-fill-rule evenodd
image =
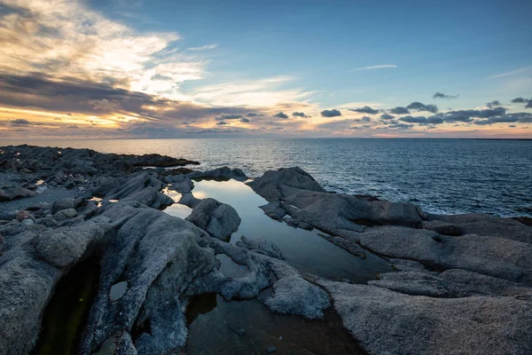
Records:
M242 170L193 170L198 164L0 147L0 355L35 353L59 281L95 257L98 285L74 353L184 353L187 304L207 293L257 299L304 319L336 312L370 354L532 353L527 220L439 216L411 203L330 193L299 168L248 181ZM380 256L392 271L367 284L327 280L289 264L271 241L229 242L239 213L194 196L200 179L246 182L268 201L261 208L269 217L317 229L354 256ZM176 202L163 189L178 193L191 215L165 213ZM226 276L220 255L246 272Z

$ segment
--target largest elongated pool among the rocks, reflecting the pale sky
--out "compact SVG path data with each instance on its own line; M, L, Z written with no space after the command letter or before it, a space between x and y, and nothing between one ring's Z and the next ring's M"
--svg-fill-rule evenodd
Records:
M266 216L259 206L268 201L254 193L248 185L236 180L194 182L192 193L203 199L215 198L231 205L239 213L242 222L239 230L231 235L231 243L244 235L249 239L264 238L275 243L292 264L301 272L309 272L327 279L347 279L357 283L375 280L378 273L391 271L390 265L379 256L366 252L366 258L353 256L337 247L318 231L293 228Z

